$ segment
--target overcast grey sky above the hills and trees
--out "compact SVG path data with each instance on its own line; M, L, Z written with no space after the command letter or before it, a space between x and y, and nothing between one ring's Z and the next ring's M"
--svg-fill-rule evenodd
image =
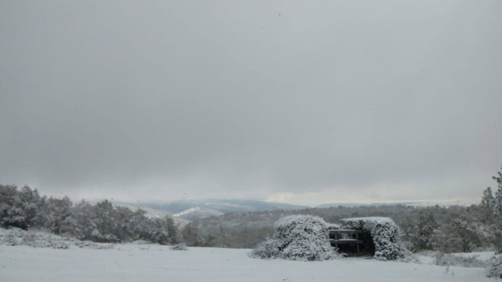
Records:
M478 198L502 2L0 1L0 182L121 200Z

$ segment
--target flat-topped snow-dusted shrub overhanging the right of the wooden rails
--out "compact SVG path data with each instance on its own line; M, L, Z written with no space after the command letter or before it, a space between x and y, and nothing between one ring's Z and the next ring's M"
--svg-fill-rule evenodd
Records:
M374 258L393 260L411 255L399 237L399 227L389 217L356 217L341 220L343 229L359 229L370 235L374 244Z

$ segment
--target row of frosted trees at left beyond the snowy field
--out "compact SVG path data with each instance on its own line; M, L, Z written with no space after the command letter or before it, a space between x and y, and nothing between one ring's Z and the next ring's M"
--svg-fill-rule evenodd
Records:
M145 240L177 244L181 234L171 217L149 218L142 209L113 206L108 200L74 205L68 197L40 196L37 189L0 185L0 225L25 230L40 228L54 234L94 242Z

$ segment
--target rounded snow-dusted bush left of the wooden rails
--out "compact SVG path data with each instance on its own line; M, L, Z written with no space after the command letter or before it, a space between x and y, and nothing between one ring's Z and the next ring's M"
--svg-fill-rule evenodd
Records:
M313 215L290 215L274 225L272 238L250 254L258 258L326 260L336 256L328 241L327 223Z

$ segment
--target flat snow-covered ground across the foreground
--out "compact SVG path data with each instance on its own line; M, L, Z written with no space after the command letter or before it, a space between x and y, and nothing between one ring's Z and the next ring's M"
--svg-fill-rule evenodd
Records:
M493 281L478 267L363 258L265 260L249 249L118 244L110 249L0 245L2 281Z

